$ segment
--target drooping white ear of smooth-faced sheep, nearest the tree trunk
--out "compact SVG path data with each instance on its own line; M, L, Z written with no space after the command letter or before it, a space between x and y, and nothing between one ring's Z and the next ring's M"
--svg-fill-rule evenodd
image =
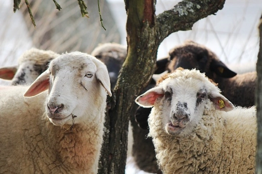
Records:
M112 96L110 89L110 78L106 66L100 66L97 68L96 78L99 81L99 83L106 89L109 96Z

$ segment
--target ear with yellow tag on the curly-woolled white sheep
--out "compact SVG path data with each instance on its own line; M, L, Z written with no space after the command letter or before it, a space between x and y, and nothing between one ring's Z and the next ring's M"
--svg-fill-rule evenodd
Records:
M214 103L217 110L227 112L234 109L234 105L221 93L212 92L211 94L209 94L209 98Z

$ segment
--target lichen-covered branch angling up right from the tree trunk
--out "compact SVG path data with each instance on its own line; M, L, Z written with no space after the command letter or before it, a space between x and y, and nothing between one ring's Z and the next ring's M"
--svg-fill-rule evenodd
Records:
M157 16L158 32L162 39L179 30L189 30L198 20L215 14L225 0L183 0L174 8Z

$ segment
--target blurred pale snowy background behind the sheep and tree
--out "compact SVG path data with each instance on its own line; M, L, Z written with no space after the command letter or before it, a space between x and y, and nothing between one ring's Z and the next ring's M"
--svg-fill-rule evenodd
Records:
M25 2L13 12L13 0L0 0L0 66L16 65L17 58L36 47L63 52L91 53L99 44L116 42L126 45L126 11L124 0L100 0L101 27L96 0L85 0L88 16L81 17L77 0L29 0L35 17L35 29ZM178 0L157 0L156 15L171 9ZM157 58L168 55L171 48L191 39L206 45L232 70L256 68L259 51L258 24L262 15L261 0L226 0L216 15L196 22L192 30L178 31L167 37L158 49ZM0 80L1 85L9 85ZM127 174L138 174L127 166ZM140 172L140 174L143 174Z

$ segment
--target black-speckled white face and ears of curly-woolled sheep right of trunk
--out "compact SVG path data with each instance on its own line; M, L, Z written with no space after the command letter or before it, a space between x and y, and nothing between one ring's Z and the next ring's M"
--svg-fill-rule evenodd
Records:
M225 106L221 107L219 101ZM198 70L178 70L170 74L158 87L136 99L142 107L155 107L161 113L162 128L170 135L186 136L201 120L208 102L218 110L233 108L220 90ZM157 109L158 108L158 109ZM152 114L152 113L151 113ZM152 115L153 116L153 115Z

